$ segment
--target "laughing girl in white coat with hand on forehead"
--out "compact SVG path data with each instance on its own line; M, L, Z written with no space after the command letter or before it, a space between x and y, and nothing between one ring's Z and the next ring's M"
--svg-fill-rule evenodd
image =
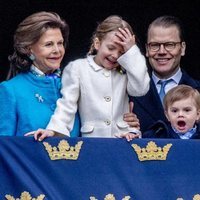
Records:
M119 16L110 16L97 26L86 58L70 62L62 75L62 98L46 129L34 137L70 136L79 110L82 137L138 137L139 131L123 120L131 96L149 89L144 56L131 26Z

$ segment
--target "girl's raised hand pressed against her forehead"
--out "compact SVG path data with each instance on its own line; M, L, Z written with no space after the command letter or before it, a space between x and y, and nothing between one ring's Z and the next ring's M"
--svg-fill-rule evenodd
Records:
M133 45L135 45L135 35L132 35L128 28L119 28L119 31L116 32L116 36L119 40L115 42L121 45L124 49L124 52L128 51Z

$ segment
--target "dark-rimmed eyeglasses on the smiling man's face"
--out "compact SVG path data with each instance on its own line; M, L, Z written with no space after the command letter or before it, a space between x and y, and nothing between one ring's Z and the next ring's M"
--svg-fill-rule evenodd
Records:
M176 48L177 44L181 44L181 42L164 42L164 43L150 42L147 44L147 46L151 51L159 51L161 45L163 45L166 51L172 51Z

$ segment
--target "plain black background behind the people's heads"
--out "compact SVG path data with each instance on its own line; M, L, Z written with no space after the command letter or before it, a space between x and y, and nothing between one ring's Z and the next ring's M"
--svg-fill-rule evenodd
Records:
M134 28L144 52L149 23L160 15L180 18L186 31L186 55L182 67L200 79L200 2L198 0L1 0L0 1L0 81L9 69L8 55L13 51L17 25L38 11L57 12L70 26L69 48L65 63L86 55L90 38L109 15L121 15Z

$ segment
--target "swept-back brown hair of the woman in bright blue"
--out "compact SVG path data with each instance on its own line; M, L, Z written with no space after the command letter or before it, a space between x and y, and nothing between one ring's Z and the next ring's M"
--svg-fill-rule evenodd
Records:
M29 48L49 29L60 29L66 47L69 36L68 24L54 12L37 12L25 18L17 27L14 34L14 53L9 56L10 71L7 79L17 73L30 69L32 60L29 58Z

